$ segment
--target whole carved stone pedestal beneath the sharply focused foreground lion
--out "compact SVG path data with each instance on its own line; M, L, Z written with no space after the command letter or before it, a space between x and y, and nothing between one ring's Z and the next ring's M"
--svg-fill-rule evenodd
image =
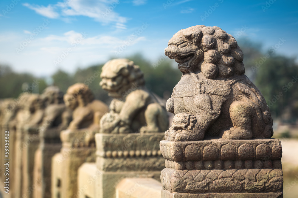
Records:
M164 198L283 197L280 140L163 140Z

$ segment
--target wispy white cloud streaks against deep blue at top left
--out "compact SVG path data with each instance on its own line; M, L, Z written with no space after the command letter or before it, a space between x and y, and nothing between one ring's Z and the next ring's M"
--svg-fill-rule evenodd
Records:
M28 3L23 5L35 10L40 15L48 18L60 18L66 23L72 20L68 18L69 16L86 16L103 24L115 23L114 27L126 29L124 24L128 19L114 12L120 1L117 2L114 0L64 0L64 2L57 2L55 5L49 4L47 7Z

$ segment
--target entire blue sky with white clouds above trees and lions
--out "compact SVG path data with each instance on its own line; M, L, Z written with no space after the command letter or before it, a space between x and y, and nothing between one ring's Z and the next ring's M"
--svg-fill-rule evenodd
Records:
M283 38L276 53L298 55L298 1L2 0L0 10L0 64L37 76L134 53L155 63L173 34L199 24L263 50Z

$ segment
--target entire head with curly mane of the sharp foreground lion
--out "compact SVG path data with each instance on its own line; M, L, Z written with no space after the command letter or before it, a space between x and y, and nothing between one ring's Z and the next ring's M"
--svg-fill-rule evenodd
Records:
M192 26L178 31L164 50L183 73L199 72L207 78L243 75L243 52L235 38L219 27Z

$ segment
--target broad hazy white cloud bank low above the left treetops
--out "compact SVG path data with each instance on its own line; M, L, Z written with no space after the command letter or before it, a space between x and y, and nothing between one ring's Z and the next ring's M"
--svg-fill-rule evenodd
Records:
M0 64L6 63L13 66L18 72L30 72L38 76L49 76L58 68L67 72L75 72L77 66L87 67L92 64L104 63L108 58L115 57L115 51L126 45L123 53L118 57L125 57L144 48L145 37L133 37L132 35L116 37L108 34L96 35L78 42L82 33L68 31L61 35L47 35L36 37L26 45L24 50L17 53L25 38L29 34L15 34L7 32L0 34ZM133 37L133 39L131 39ZM73 44L74 41L78 43ZM129 42L129 45L127 43ZM153 45L153 44L152 44ZM57 66L54 61L66 51L71 49L68 55Z

